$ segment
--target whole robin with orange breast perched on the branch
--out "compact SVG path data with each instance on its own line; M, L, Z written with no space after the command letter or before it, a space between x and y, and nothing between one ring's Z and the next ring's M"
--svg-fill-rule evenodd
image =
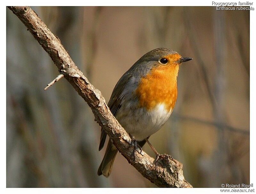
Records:
M117 82L108 107L118 122L140 147L146 142L158 155L148 138L156 133L172 114L177 99L177 76L180 64L192 58L176 51L157 48L144 54ZM106 140L101 129L100 146ZM108 141L98 175L111 173L117 148Z

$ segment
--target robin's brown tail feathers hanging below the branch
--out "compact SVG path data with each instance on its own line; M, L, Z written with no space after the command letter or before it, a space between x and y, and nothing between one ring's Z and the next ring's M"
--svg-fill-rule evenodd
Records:
M116 157L117 149L111 141L108 141L108 146L103 157L103 160L98 169L98 175L104 175L108 177L111 173L112 166Z

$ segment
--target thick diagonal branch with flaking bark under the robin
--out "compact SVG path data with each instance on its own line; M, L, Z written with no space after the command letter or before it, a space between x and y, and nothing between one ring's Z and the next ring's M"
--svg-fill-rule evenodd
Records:
M64 49L60 39L47 28L30 7L8 8L23 22L50 55L60 74L63 74L78 94L84 98L92 109L97 123L106 131L117 149L133 167L159 187L192 187L183 176L182 163L174 162L171 156L161 155L155 162L144 151L141 153L134 151L129 134L112 115L100 91L87 80Z

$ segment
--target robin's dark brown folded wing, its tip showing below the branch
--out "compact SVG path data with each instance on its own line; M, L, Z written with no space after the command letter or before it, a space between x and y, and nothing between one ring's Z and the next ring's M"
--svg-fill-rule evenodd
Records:
M116 116L117 111L121 107L121 101L122 101L121 94L124 90L126 83L129 81L130 78L131 76L128 73L125 73L116 83L116 86L111 94L111 97L108 102L108 107L114 116ZM106 137L107 137L107 133L105 132L104 129L101 128L99 151L103 148Z

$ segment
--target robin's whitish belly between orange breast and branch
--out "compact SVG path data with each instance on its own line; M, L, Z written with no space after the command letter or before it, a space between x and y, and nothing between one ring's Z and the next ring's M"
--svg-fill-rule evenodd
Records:
M124 129L135 137L136 140L144 140L156 133L170 117L172 110L166 111L164 104L158 104L151 111L145 108L128 108L123 106L116 114L116 119Z

